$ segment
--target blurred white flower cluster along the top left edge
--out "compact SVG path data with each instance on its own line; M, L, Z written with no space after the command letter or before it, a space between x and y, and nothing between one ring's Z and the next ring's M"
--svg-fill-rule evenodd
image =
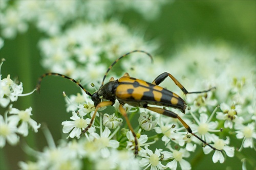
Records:
M29 23L47 35L60 34L74 20L101 22L113 12L133 9L145 19L155 18L165 1L1 1L1 28L4 38L14 38L28 30ZM146 8L141 8L146 6ZM38 12L40 11L40 12Z

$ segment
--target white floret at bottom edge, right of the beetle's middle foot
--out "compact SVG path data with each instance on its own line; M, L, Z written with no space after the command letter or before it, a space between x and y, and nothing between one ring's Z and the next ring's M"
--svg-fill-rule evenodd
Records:
M145 150L141 150L141 156L143 158L139 161L139 165L141 167L145 167L144 169L147 169L150 166L151 169L165 169L166 166L164 166L160 161L162 149L156 149L155 153L153 153L147 148L148 146L149 145L145 145Z

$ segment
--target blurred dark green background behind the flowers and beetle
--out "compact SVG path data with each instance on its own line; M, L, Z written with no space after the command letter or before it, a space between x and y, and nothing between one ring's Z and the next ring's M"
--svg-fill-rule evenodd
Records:
M143 19L133 10L122 14L119 12L116 15L122 15L122 23L132 30L144 30L146 40L159 40L161 56L170 57L176 52L177 46L196 44L198 41L208 44L224 41L255 56L255 2L175 1L164 5L160 16L151 21ZM12 79L18 76L18 80L23 82L24 93L34 89L38 77L46 72L40 65L41 57L37 47L37 42L42 36L44 35L31 25L25 34L19 34L12 40L5 40L4 47L0 50L1 58L6 59L1 70L2 78L6 78L8 74ZM62 138L61 122L70 117L66 112L62 91L75 94L80 92L80 89L69 80L56 77L49 77L43 84L40 94L20 97L13 105L20 110L31 106L33 119L46 124L57 142ZM2 115L4 111L5 109L1 108ZM47 145L41 130L34 136L29 135L25 140L39 151ZM241 143L231 144L239 147ZM7 144L1 149L1 169L16 169L18 161L30 159L20 146L10 147ZM255 152L251 151L248 150L248 156L255 157ZM214 164L211 160L212 154L205 156L201 152L189 158L198 160L194 161L197 163L192 166L195 169L242 168L240 158L227 158L224 164ZM255 169L255 162L254 166L247 163L247 168Z

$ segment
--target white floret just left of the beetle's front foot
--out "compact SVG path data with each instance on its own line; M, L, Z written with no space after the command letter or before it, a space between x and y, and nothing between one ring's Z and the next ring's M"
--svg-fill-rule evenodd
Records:
M82 130L84 130L88 126L88 124L90 124L91 119L83 119L79 117L76 112L72 112L72 114L73 115L70 118L74 121L66 120L65 122L62 122L62 131L63 133L69 133L71 131L68 137L74 138L76 136L77 138L80 138ZM89 133L92 133L94 131L95 128L93 126L88 130Z

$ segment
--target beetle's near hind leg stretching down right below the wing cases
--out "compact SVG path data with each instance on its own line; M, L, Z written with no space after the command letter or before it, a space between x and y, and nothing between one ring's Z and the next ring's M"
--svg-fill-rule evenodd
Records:
M157 112L159 114L163 114L165 116L168 117L173 117L173 118L178 118L181 122L181 124L186 128L187 132L190 133L191 135L195 136L196 138L198 138L199 140L201 140L205 145L208 145L211 149L213 150L217 150L217 151L221 151L222 150L218 150L215 147L212 147L212 145L210 145L209 143L207 143L205 140L203 140L202 138L200 138L198 135L196 135L195 133L192 132L191 128L184 122L184 120L176 113L169 111L169 110L165 110L162 108L158 108L158 107L150 107L147 106L146 109Z

